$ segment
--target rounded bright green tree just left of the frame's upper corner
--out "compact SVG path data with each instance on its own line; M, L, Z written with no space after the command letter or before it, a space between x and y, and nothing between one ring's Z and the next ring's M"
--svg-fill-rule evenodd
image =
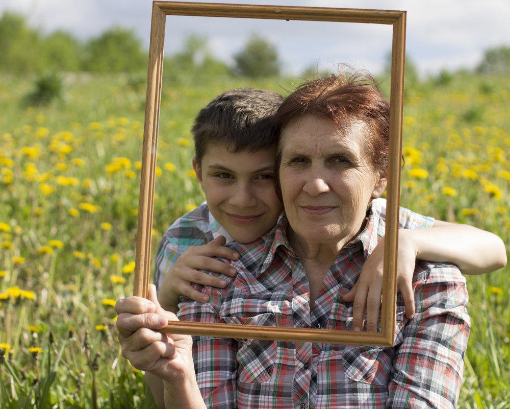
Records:
M147 57L132 30L116 27L85 45L84 69L100 73L133 73L147 69Z

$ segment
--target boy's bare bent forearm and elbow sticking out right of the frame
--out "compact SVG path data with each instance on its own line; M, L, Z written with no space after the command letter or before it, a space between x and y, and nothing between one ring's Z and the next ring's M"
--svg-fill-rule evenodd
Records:
M463 274L489 273L506 264L503 241L476 227L435 221L432 228L405 229L400 233L412 240L417 258L453 263Z

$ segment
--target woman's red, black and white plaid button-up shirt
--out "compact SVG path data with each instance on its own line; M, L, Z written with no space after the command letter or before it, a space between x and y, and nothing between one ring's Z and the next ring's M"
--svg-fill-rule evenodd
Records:
M401 227L429 227L413 215ZM181 304L187 321L352 329L352 304L342 297L384 234L377 207L365 230L331 266L309 308L309 285L290 248L285 216L251 245L233 244L241 258L230 288L203 289L207 304ZM453 408L460 392L469 334L465 279L450 264L418 261L416 315L404 317L397 296L395 347L194 338L194 362L210 408Z

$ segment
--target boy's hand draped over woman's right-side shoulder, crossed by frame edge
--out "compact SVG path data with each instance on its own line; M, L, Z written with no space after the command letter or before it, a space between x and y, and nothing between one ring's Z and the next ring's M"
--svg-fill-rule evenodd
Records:
M397 290L404 299L405 316L414 317L415 303L413 294L413 273L416 263L416 251L409 241L399 235L397 254ZM382 237L363 264L360 278L343 297L345 302L353 303L352 327L361 331L364 325L365 310L367 331L377 331L379 309L382 296L382 273L384 271L384 237Z

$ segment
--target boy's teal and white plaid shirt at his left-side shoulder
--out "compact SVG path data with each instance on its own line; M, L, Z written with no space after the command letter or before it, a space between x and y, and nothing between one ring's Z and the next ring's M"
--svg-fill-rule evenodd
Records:
M156 287L159 289L167 271L188 247L207 244L218 236L225 236L227 242L232 241L226 230L214 219L206 202L177 219L163 235L156 252Z

